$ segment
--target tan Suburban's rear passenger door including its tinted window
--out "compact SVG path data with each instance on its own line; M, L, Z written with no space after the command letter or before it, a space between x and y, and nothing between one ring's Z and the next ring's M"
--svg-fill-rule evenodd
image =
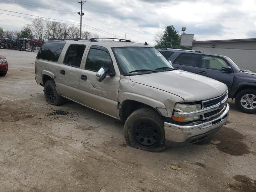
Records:
M86 45L70 44L66 55L58 67L57 72L57 87L62 96L72 100L79 101L79 80L81 73L81 63L85 56Z

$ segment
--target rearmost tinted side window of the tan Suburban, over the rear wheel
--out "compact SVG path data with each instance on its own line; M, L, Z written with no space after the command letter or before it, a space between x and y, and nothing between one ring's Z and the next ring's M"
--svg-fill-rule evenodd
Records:
M65 44L66 42L45 42L36 58L57 62Z

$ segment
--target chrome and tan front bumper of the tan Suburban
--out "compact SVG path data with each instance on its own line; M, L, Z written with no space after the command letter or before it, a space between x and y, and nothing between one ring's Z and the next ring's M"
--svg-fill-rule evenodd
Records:
M164 132L166 144L186 145L206 139L208 136L217 132L226 122L229 109L229 104L227 104L226 109L220 116L213 120L199 122L197 124L177 125L165 122Z

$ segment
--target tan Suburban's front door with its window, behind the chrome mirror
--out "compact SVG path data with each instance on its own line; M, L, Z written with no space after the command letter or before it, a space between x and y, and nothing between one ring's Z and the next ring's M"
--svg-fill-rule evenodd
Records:
M115 74L109 51L102 46L90 46L79 86L83 90L83 104L116 118L120 76ZM96 73L101 67L108 68L108 72L107 77L98 82Z

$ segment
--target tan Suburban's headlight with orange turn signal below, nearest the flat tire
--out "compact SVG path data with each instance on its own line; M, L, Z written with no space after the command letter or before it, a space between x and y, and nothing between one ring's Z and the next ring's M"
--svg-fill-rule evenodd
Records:
M194 111L198 111L201 110L202 106L200 104L180 104L177 103L174 106L174 110L176 112L182 112L182 113L188 113L188 112L194 112ZM175 114L172 116L172 119L174 121L178 121L178 122L189 122L189 121L195 121L195 120L199 120L200 119L200 115L197 116L188 116L188 117L178 117L175 116Z

